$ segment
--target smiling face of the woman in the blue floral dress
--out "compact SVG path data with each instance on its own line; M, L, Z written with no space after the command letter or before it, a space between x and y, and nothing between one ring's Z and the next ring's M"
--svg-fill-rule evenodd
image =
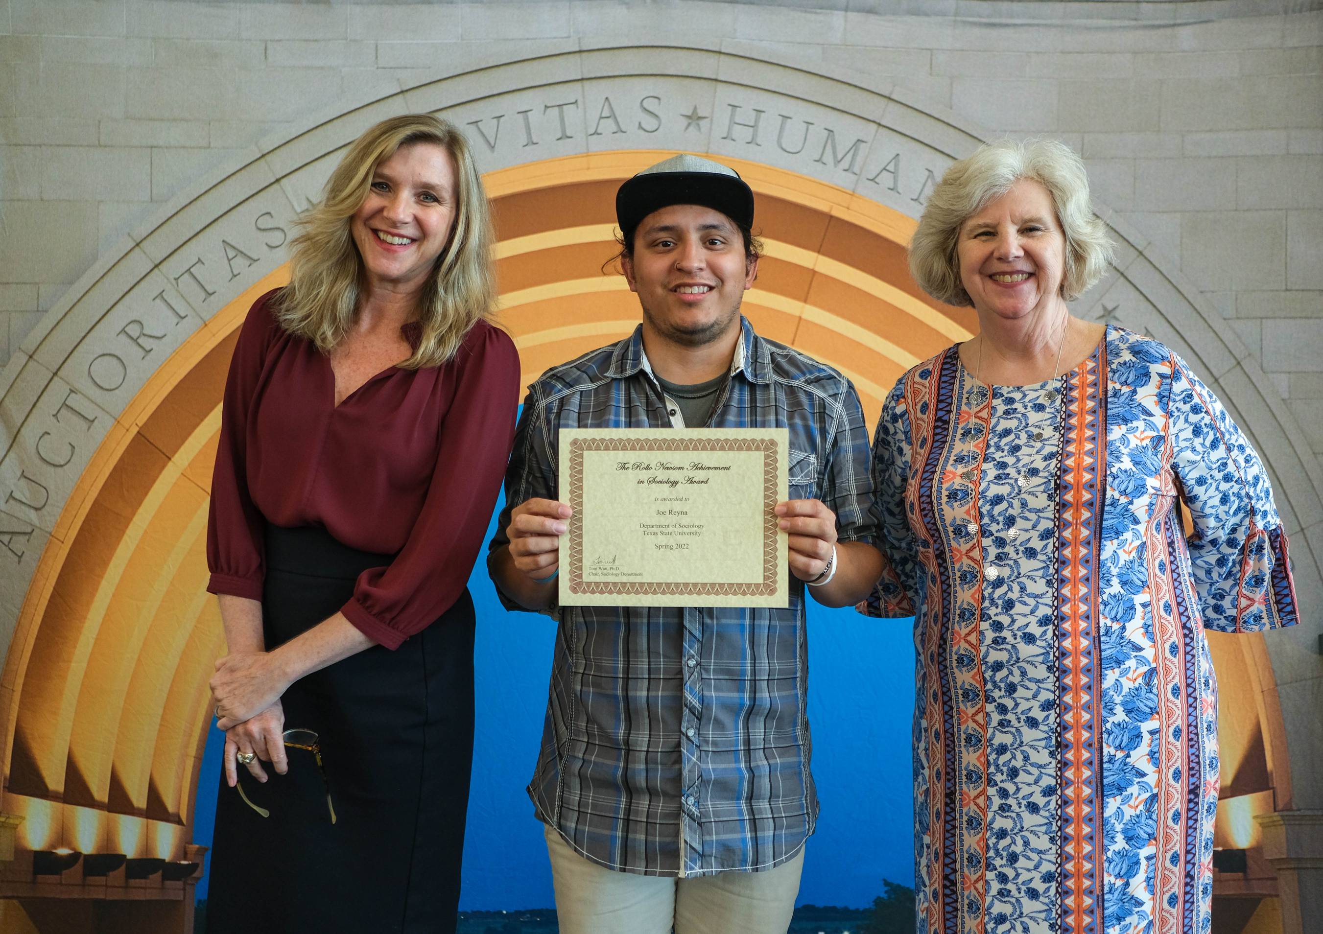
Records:
M980 314L1046 311L1061 295L1065 245L1048 189L1020 179L960 226L960 284Z

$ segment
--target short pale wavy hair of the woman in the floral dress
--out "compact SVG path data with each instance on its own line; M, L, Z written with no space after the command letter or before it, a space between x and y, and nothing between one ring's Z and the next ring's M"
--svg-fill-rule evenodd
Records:
M1065 143L1005 139L951 165L933 189L909 245L910 274L925 292L946 304L974 304L955 253L960 228L1020 179L1037 181L1052 196L1066 241L1061 296L1072 302L1102 278L1113 246L1107 225L1093 213L1084 161Z

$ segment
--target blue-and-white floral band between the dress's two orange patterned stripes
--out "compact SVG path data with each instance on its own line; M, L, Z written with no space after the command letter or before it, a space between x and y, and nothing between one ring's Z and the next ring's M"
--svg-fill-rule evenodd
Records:
M1057 931L1057 696L1052 594L1061 381L996 386L979 480L988 710L988 930Z

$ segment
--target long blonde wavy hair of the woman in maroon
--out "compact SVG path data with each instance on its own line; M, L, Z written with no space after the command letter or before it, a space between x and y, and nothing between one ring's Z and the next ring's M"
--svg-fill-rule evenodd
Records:
M321 192L321 201L298 221L291 243L290 284L275 303L280 325L329 353L353 324L365 284L363 257L349 230L377 165L401 146L434 143L455 160L455 225L423 286L418 323L422 339L400 366L419 369L450 360L468 329L488 319L496 303L492 222L468 140L430 114L392 116L353 142Z

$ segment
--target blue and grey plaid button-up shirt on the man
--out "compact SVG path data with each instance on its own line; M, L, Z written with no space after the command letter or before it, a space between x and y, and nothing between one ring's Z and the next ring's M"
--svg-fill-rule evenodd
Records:
M868 433L835 369L741 319L710 427L790 429L790 497L820 499L841 541L873 541ZM643 331L532 385L491 541L511 509L557 499L560 429L683 427L643 353ZM770 869L818 819L806 716L804 586L787 609L556 607L560 620L537 815L599 865L646 876ZM520 607L501 594L509 609Z

